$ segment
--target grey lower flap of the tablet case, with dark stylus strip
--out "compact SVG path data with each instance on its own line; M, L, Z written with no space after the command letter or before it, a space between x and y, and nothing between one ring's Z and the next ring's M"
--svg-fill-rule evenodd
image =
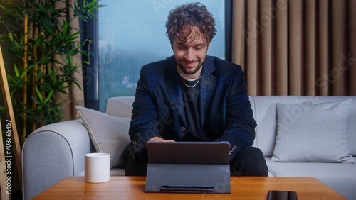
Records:
M145 192L231 193L230 165L148 164Z

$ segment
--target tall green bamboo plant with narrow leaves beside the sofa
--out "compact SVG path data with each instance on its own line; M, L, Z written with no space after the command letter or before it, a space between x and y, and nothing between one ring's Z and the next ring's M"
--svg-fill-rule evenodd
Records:
M21 140L38 126L61 120L63 101L56 101L56 93L66 93L73 84L80 88L73 74L82 64L73 57L88 56L81 50L87 41L78 40L81 32L71 22L95 19L95 11L103 6L98 1L16 0L1 6L0 22L8 31L0 33L0 41L8 44L4 48L14 59L6 70Z

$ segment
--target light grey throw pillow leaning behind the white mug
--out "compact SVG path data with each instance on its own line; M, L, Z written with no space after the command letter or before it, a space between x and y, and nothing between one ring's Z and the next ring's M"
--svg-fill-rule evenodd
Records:
M123 150L130 143L130 118L110 116L82 106L75 108L88 129L95 150L110 153L110 168L117 166Z

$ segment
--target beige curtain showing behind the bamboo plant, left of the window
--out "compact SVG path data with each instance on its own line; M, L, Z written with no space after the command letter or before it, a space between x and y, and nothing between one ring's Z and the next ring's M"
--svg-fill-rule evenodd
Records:
M70 2L70 4L72 4L72 6L74 6L73 1L71 0L66 0L67 2ZM56 2L55 4L55 8L56 9L60 9L62 6L64 6L64 2ZM73 18L73 11L69 10L66 13L66 17L68 19ZM59 21L63 21L63 19L59 19ZM70 22L70 26L72 26L74 28L74 30L79 30L79 19L75 18L73 19L73 21ZM73 34L73 33L72 33ZM76 39L76 42L80 41L80 37L78 37ZM58 58L58 60L61 60L61 58ZM65 62L63 60L63 62ZM81 65L81 55L75 55L75 57L73 57L73 64L74 63L78 63L78 65ZM61 108L63 109L64 113L63 113L63 120L62 121L68 121L71 119L76 118L76 109L75 106L84 106L84 92L83 92L83 72L82 72L82 68L79 67L77 69L77 73L74 74L74 78L78 79L78 82L82 83L80 84L80 87L82 88L82 90L80 90L75 84L73 84L72 87L70 87L69 89L67 89L66 92L68 92L68 94L63 94L63 93L58 93L56 94L56 102L59 103L63 100L66 99L66 101L64 101L63 104L61 104Z

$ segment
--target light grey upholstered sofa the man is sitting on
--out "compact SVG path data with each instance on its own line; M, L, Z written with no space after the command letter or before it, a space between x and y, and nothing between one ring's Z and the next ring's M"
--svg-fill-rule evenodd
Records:
M253 118L258 124L254 145L263 151L270 176L315 177L348 199L356 199L355 163L308 160L306 162L283 162L283 157L273 158L273 151L277 151L275 146L279 128L277 103L299 105L311 102L319 104L345 99L352 99L350 120L346 123L349 127L346 130L348 130L347 140L350 146L350 155L354 159L356 156L356 96L250 96ZM111 98L108 101L107 114L130 118L133 101L134 97L131 96ZM291 116L298 118L300 107L294 106L292 111ZM335 115L337 116L337 113ZM322 118L323 112L320 112L319 116ZM320 144L324 144L325 140L330 140L330 138L318 138ZM297 142L295 141L295 143ZM318 145L319 142L315 143L315 146ZM310 146L313 147L313 145ZM293 153L293 148L290 148L290 151ZM80 119L54 123L35 130L28 136L22 149L23 199L33 198L65 177L83 176L84 155L88 152L95 152L95 148L87 128ZM299 152L296 154L298 155ZM278 159L282 159L282 161L271 162L271 160L278 161ZM110 174L125 175L125 170L113 168Z

